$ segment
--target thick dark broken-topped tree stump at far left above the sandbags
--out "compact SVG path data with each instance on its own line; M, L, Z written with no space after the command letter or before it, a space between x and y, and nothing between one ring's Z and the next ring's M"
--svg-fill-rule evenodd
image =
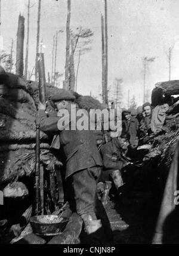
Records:
M16 50L16 74L23 76L23 50L24 50L24 17L18 16L17 50Z

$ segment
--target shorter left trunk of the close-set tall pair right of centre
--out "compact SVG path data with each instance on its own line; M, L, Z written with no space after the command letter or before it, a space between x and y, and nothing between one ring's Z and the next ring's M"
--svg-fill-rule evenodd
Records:
M102 98L103 103L106 103L105 101L105 50L104 50L104 18L101 14L101 40L102 40Z

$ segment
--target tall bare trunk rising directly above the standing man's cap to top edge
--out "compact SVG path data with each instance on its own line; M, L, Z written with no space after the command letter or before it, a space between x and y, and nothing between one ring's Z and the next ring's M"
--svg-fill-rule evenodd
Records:
M67 0L67 24L66 24L66 64L64 89L69 90L69 63L70 63L70 16L71 0Z

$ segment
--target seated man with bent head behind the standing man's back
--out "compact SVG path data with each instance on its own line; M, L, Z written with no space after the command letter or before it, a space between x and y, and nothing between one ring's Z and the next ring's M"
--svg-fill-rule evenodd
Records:
M122 168L130 164L128 158L126 158L126 152L129 146L128 140L129 135L122 133L119 137L112 138L109 143L104 144L104 146L101 148L101 155L103 157L104 165L104 177L109 175L112 178L118 191L118 195L120 195L121 190L123 190L122 202L126 205L130 203L128 197L129 177L126 177L126 183L124 183L124 178L122 177L124 176L124 173L122 174Z

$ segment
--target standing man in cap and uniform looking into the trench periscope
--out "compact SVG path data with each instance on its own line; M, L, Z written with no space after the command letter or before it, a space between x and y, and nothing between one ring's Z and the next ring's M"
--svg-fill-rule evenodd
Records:
M73 108L76 108L76 111L79 110L78 104L74 103L75 96L70 91L61 89L61 93L54 95L51 100L58 112L66 109L70 114ZM76 124L74 129L71 121L70 123L67 121L70 129L63 129L58 122L60 118L48 117L45 113L45 105L42 103L39 103L38 119L42 131L58 132L54 137L53 147L57 144L63 149L66 158L66 181L69 184L67 189L70 190L70 187L73 189L76 212L84 221L86 233L90 235L97 232L101 236L100 234L104 231L100 231L101 220L98 220L95 214L95 191L103 164L97 150L94 131L89 129L79 131Z

